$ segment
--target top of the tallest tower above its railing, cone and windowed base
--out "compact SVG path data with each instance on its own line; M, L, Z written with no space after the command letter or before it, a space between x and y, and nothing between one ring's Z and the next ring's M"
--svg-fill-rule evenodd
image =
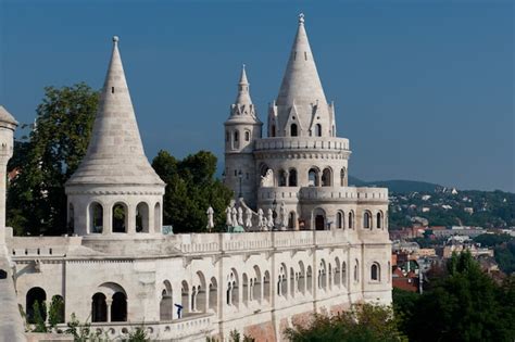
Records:
M334 107L327 103L302 13L279 94L268 112L268 137L297 136L336 136Z

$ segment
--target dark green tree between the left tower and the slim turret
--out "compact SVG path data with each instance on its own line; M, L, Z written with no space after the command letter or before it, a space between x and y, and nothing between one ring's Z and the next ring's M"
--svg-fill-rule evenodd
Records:
M222 230L224 212L231 191L214 177L216 156L206 151L176 160L166 151L160 151L152 161L152 167L166 182L163 199L163 220L173 225L174 232L205 230L211 205L215 212L216 230Z

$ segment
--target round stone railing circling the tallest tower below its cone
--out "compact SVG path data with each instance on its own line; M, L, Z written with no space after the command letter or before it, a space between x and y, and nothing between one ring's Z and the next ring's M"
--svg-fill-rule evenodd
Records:
M337 137L277 137L256 140L254 151L299 150L299 151L349 151L349 139Z

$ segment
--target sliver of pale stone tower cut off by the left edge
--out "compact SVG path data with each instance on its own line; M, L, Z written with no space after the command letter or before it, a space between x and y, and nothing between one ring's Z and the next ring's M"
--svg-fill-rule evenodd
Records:
M5 194L8 162L13 156L14 130L17 122L0 105L0 255L5 245Z

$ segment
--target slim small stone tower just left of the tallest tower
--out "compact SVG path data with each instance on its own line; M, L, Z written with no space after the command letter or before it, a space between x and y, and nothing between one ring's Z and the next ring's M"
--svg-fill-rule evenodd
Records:
M261 138L263 123L256 116L250 98L249 81L244 65L238 83L238 96L230 106L229 118L225 122L225 183L235 192L235 198L243 198L250 206L255 206L254 141Z

